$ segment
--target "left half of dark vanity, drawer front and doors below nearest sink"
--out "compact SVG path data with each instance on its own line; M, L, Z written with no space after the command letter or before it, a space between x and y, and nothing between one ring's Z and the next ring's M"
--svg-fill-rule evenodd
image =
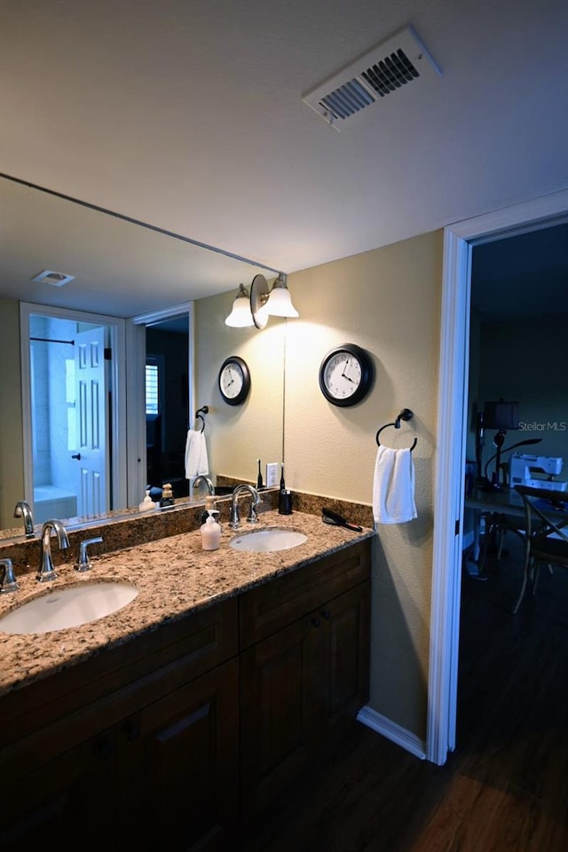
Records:
M28 687L20 717L4 697L3 852L224 848L238 824L236 626L234 599L108 651L105 676L98 657Z

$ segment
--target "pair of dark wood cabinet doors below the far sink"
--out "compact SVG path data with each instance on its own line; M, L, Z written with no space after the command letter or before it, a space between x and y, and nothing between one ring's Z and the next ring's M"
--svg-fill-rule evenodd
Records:
M241 806L248 827L367 701L370 583L241 654Z

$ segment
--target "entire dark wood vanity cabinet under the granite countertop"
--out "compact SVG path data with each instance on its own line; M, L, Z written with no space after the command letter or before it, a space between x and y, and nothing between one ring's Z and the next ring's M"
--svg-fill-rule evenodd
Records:
M0 848L221 852L367 700L360 542L0 699Z

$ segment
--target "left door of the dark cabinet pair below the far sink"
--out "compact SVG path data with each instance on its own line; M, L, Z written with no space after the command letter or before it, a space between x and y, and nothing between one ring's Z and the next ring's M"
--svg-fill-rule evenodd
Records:
M243 824L302 772L318 721L315 614L241 654L241 808Z

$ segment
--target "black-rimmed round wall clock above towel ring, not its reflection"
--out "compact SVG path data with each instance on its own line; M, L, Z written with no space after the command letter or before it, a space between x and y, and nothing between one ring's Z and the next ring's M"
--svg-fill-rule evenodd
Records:
M333 406L355 406L373 384L373 361L355 343L343 343L327 352L319 366L319 388Z

